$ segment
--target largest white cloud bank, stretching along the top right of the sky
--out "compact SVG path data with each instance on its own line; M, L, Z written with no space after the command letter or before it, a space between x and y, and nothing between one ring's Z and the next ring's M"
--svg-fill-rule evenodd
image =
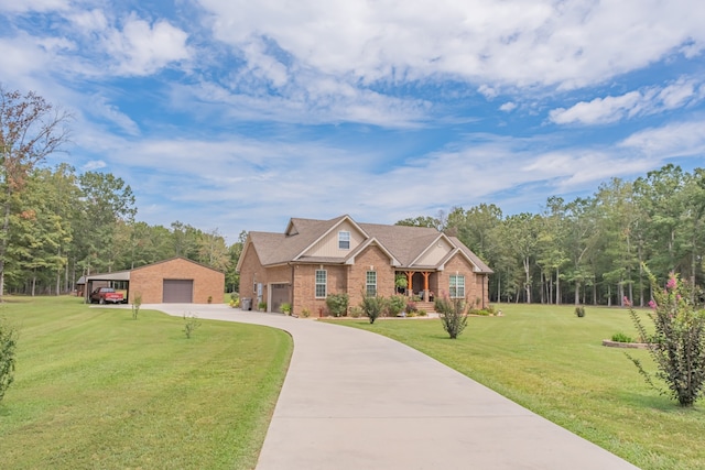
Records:
M691 55L705 46L705 9L690 0L199 3L213 13L216 37L228 44L267 37L302 67L364 83L401 72L408 79L443 74L573 88L644 67L685 45Z

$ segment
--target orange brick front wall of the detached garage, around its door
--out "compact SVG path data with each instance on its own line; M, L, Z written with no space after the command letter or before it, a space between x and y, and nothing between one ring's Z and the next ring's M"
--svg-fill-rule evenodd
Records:
M164 280L193 280L194 304L223 303L225 292L225 274L184 259L175 259L163 263L150 264L130 273L130 292L128 302L134 302L142 295L143 304L161 304L164 295Z

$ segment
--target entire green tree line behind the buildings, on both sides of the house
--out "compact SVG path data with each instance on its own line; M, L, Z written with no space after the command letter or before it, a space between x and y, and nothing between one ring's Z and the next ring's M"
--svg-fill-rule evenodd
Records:
M4 289L58 294L86 274L139 267L174 256L226 273L247 232L226 245L203 231L134 220L129 185L109 173L45 167L67 142L70 114L34 92L0 85L0 298ZM643 306L651 298L643 271L665 282L677 273L704 282L705 170L665 165L633 182L614 178L590 197L550 197L540 214L505 216L494 204L452 208L399 225L435 227L458 237L489 264L494 302Z

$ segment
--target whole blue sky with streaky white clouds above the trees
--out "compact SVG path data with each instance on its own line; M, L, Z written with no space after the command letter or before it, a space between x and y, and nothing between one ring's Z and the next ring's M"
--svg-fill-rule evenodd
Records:
M72 111L67 161L138 219L283 231L538 212L705 166L693 0L0 0L0 83Z

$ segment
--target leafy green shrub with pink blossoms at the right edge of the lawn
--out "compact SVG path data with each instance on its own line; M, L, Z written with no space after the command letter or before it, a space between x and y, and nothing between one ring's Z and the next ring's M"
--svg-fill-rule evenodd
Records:
M663 394L677 400L681 406L693 406L703 395L705 383L705 310L697 305L693 288L674 273L669 275L665 288L658 285L648 272L653 288L649 303L654 332L649 335L641 318L629 304L629 315L641 341L657 364L655 378L668 385ZM637 365L647 383L659 390L638 359L627 354Z

